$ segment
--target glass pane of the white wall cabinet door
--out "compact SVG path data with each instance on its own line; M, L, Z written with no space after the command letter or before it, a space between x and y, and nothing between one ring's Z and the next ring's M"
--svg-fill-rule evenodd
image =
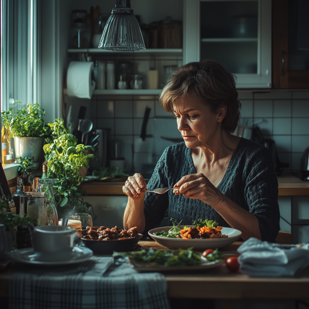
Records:
M233 74L257 74L258 1L200 4L200 59L212 59Z

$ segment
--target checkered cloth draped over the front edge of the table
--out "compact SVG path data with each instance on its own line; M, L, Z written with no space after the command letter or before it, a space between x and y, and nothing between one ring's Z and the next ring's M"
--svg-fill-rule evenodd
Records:
M11 309L169 309L165 278L136 273L128 263L103 276L110 257L93 257L76 269L16 271L10 281Z

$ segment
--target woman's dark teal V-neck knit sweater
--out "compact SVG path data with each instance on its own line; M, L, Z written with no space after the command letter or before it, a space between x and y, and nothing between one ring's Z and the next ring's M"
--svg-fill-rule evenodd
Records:
M147 189L170 187L182 176L196 174L191 149L185 143L176 144L164 150ZM270 151L260 144L242 138L231 157L226 173L217 187L237 205L250 211L259 221L262 240L276 239L280 221L278 205L278 181ZM182 225L203 218L216 220L219 226L230 227L210 205L200 200L189 199L182 194L176 196L146 193L144 214L148 231L158 227L168 208L168 216Z

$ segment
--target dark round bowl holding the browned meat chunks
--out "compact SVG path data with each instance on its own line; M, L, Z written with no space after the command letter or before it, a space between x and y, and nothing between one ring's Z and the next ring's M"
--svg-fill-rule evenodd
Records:
M87 231L83 230L82 235L87 235ZM83 244L89 249L91 249L94 253L110 254L114 251L124 252L134 249L136 244L142 237L142 234L138 234L138 236L134 238L121 238L111 240L93 240L81 238L81 240Z

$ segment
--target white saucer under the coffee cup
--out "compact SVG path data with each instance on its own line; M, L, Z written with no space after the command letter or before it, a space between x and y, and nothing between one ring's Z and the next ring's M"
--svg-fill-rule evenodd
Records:
M12 260L20 263L25 264L32 264L32 265L46 265L46 266L60 266L60 265L70 265L81 263L93 255L91 249L87 247L74 247L71 253L71 258L65 260L42 260L40 255L33 251L33 248L25 248L25 249L18 249L11 252L8 252L8 255L11 257Z

